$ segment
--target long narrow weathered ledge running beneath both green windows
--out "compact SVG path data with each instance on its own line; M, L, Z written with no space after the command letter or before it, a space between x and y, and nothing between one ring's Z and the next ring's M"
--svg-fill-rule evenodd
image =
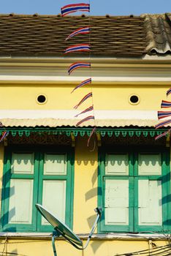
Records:
M89 234L77 234L80 239L86 240L88 239ZM156 240L165 240L167 239L169 234L161 234L161 233L149 233L149 234L142 234L142 233L102 233L102 234L94 234L91 237L91 240L149 240L149 239L156 239ZM33 239L47 239L52 238L52 233L12 233L12 232L1 232L0 237L7 237L7 238L33 238ZM64 239L59 237L57 239Z

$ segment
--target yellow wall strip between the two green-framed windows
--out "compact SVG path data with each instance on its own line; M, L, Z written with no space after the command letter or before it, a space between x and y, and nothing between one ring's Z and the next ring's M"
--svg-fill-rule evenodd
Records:
M78 138L75 147L74 219L75 233L89 233L97 207L97 147L87 147L87 139Z

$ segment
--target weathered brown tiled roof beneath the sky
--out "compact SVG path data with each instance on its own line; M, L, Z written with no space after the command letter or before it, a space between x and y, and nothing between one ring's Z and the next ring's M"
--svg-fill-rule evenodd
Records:
M171 52L171 14L92 16L91 56L142 56ZM86 16L0 15L0 55L63 56L69 45L88 43L89 35L65 41L89 25ZM88 53L74 53L74 56ZM69 53L67 56L73 56Z

